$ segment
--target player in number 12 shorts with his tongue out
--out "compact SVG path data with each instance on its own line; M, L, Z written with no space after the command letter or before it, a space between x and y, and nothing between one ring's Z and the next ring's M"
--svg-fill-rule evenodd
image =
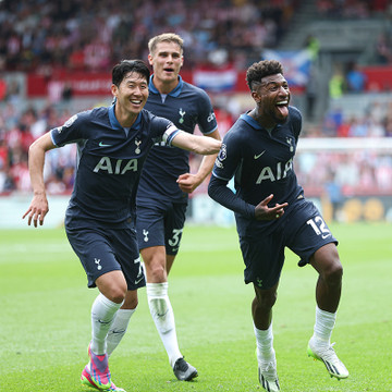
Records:
M259 381L280 391L273 350L272 307L277 299L284 248L318 273L316 323L307 353L328 372L343 379L348 371L330 336L341 296L343 268L334 238L316 206L297 184L293 159L302 128L299 111L289 106L290 89L280 62L260 61L246 73L256 106L242 114L223 138L208 193L235 212L252 303ZM234 176L235 193L228 187Z

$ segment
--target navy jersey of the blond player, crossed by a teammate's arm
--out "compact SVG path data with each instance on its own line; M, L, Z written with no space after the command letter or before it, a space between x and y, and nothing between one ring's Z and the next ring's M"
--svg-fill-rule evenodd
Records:
M149 82L149 97L145 109L156 115L169 119L182 131L193 134L196 125L203 134L208 135L217 130L217 119L211 101L206 91L184 82L179 76L177 86L168 95L161 95L154 86L154 75ZM150 198L187 201L176 179L189 171L189 152L177 147L156 144L145 162L137 199Z

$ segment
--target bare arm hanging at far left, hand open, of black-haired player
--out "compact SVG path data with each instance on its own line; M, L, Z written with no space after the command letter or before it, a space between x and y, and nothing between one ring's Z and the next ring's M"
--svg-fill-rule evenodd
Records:
M28 149L28 170L34 196L22 218L28 216L27 224L30 225L34 222L35 228L38 226L38 221L40 225L44 224L44 218L49 211L44 182L44 163L45 152L54 147L50 133L47 133L35 140Z

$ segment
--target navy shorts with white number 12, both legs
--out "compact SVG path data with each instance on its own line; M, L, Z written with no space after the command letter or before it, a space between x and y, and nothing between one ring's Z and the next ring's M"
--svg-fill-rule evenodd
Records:
M335 243L314 203L299 199L277 221L275 229L266 232L260 230L240 233L240 245L245 262L245 283L255 283L260 289L270 289L278 283L283 264L284 249L290 248L301 257L302 262L309 258L321 246Z

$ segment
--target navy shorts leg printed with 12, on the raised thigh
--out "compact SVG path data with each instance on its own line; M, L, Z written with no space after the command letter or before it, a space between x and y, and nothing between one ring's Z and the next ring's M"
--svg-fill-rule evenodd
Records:
M320 211L309 200L301 200L285 225L286 246L301 257L301 264L310 261L311 256L322 246L338 240L332 235Z

